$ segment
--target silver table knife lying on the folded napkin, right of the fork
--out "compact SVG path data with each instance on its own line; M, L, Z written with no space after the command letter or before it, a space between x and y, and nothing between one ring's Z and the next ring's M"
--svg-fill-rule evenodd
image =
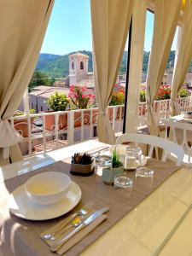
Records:
M102 209L94 212L90 215L90 217L86 218L82 224L80 224L75 230L70 232L67 236L62 237L59 241L57 241L54 245L50 247L51 252L56 252L59 248L66 243L72 236L78 233L80 230L84 229L85 226L89 225L93 222L96 218L102 215L104 212L108 212L108 207L103 207Z

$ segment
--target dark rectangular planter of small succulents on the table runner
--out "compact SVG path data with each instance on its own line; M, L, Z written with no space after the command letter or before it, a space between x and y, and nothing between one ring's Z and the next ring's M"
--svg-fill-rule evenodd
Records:
M73 175L90 176L94 172L94 160L90 154L74 154L71 162Z

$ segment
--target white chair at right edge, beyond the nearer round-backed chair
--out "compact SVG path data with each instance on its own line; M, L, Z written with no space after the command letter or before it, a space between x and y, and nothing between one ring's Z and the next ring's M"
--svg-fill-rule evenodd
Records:
M165 138L177 143L184 150L183 163L192 165L192 124L174 119L164 120L166 125Z

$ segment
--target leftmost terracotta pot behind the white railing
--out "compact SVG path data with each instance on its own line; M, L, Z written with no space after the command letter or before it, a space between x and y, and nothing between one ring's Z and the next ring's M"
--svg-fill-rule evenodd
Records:
M35 109L30 109L30 113L35 113ZM14 116L24 116L26 115L23 112L19 112L17 111ZM33 124L34 118L31 117L31 125ZM24 119L15 119L14 120L14 128L15 130L20 132L20 135L22 137L28 137L28 122L27 122L27 118Z

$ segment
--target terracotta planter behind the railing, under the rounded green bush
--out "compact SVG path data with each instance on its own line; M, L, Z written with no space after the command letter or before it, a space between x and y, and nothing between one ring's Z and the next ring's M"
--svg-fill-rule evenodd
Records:
M44 126L46 131L54 131L55 130L55 112L54 111L45 111L44 113L51 113L51 115L45 115ZM67 113L60 113L58 119L58 130L67 129Z

